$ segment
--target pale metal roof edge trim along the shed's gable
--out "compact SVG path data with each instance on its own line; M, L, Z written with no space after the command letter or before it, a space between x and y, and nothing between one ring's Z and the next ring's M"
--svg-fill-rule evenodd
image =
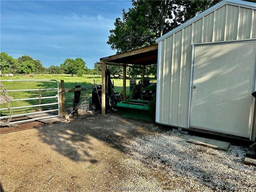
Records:
M240 6L240 7L245 7L245 8L250 8L250 9L256 9L256 3L247 2L247 1L241 1L241 0L223 0L222 2L219 2L218 4L212 6L211 8L205 10L204 12L202 12L199 15L195 16L194 18L188 20L187 22L181 24L180 26L176 27L175 29L173 29L170 32L164 34L160 38L156 39L156 43L158 43L158 42L160 42L160 41L170 37L172 34L182 30L186 26L189 26L190 24L196 22L197 20L200 20L204 16L210 14L211 12L214 12L215 10L217 10L218 8L220 8L220 7L222 7L222 6L226 5L226 4L230 4L230 5L234 5L234 6Z

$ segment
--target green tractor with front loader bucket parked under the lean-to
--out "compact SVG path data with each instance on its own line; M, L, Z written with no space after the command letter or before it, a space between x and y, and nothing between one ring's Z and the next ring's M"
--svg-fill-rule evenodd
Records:
M156 115L156 83L135 85L124 101L116 107L123 117L154 121Z

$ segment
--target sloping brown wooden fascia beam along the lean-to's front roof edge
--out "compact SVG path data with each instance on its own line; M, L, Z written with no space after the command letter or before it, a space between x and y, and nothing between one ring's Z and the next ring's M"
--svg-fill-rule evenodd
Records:
M148 46L148 47L144 47L144 48L140 48L140 49L136 49L136 50L132 50L132 51L128 51L128 52L125 52L125 53L112 55L112 56L105 57L105 58L100 58L100 60L104 61L104 62L107 62L107 61L110 61L110 60L120 59L120 58L132 56L132 55L136 55L136 54L140 54L140 53L144 53L144 52L148 52L148 51L152 51L152 50L158 50L158 44Z

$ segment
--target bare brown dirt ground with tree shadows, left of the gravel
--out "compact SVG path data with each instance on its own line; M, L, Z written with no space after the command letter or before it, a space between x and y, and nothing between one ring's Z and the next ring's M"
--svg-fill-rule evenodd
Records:
M111 191L125 180L122 143L150 132L145 122L87 115L70 123L3 134L4 191Z

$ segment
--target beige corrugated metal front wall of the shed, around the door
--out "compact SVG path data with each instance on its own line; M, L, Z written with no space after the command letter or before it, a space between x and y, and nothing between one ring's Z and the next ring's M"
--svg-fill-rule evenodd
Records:
M156 122L188 127L192 44L256 37L256 10L226 4L158 44Z

